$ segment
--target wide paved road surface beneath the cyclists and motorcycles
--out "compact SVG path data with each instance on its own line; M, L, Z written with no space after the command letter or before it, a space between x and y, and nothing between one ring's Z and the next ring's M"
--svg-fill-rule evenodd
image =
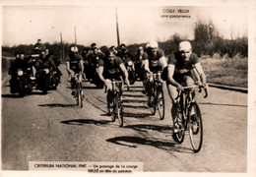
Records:
M2 87L2 168L28 170L29 161L135 161L145 171L246 172L247 94L210 89L197 95L204 144L193 153L188 136L171 138L170 100L165 119L150 115L142 83L124 92L124 127L106 116L103 89L84 82L84 108L75 104L64 67L57 90L18 98Z

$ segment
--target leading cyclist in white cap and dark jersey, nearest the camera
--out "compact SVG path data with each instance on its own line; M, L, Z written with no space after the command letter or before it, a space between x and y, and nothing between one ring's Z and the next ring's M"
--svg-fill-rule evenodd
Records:
M199 62L198 56L192 52L191 43L189 41L182 41L179 43L178 51L172 53L168 57L167 78L166 85L169 96L172 101L171 114L174 122L174 132L177 132L176 120L177 118L177 104L175 97L177 97L177 89L183 90L183 87L193 86L198 77L200 80L199 86L206 87L206 76Z

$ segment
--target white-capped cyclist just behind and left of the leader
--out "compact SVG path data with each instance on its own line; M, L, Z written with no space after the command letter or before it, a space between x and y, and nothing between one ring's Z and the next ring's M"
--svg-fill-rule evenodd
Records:
M152 95L152 92L149 90L152 87L152 81L150 81L150 74L158 71L166 70L167 62L164 57L163 51L159 48L159 44L156 41L151 41L147 45L147 50L143 54L144 58L144 70L147 73L147 82L146 82L146 93ZM148 106L151 107L150 96L148 97Z

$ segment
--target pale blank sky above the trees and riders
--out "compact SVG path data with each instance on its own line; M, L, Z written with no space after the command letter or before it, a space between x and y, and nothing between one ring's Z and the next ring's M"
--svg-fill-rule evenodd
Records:
M162 19L163 9L189 10L192 20ZM2 45L34 44L60 41L90 45L117 45L114 6L3 6ZM166 11L165 11L166 12ZM121 6L117 8L121 43L163 41L174 33L193 39L195 22L212 19L224 38L247 36L248 10L243 6L176 7Z

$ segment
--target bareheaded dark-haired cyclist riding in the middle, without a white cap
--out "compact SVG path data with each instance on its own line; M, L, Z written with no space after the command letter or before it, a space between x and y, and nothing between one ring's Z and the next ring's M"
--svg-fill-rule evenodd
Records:
M112 97L110 94L110 90L112 89L111 80L114 79L117 81L122 81L122 75L124 75L125 83L129 87L130 83L128 80L128 73L121 58L115 55L114 50L108 49L105 52L105 57L98 62L97 74L107 89L107 112L110 114L110 108L112 106L110 105L110 102L112 102Z

